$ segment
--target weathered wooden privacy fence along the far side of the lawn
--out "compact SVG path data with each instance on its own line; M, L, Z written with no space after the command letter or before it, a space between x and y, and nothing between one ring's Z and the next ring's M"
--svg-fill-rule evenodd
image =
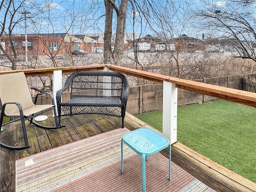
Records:
M224 77L212 77L194 80L196 82L202 82L212 85L218 85L228 88L234 88L238 90L243 90L244 84L242 79L252 82L256 82L256 73L254 74L244 74L235 76L224 76ZM256 89L256 83L254 83L254 91ZM247 86L249 87L249 86ZM249 91L249 90L246 90ZM128 96L128 102L126 106L126 111L131 114L140 114L152 110L162 109L162 98L163 98L163 84L152 84L130 87L130 92ZM208 102L211 100L216 100L217 98L211 97L204 94L199 94L196 92L178 89L178 106L194 104L199 102Z

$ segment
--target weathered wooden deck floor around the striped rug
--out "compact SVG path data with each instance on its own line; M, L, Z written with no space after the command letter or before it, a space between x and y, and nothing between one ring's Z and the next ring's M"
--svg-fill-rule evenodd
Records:
M50 126L52 121L53 118L50 117L44 123ZM62 123L66 124L66 127L58 130L44 130L26 124L29 143L32 148L21 151L0 148L0 192L15 192L15 160L120 128L121 121L121 118L104 115L76 115L63 117ZM129 130L150 127L128 113L125 118L125 126ZM3 142L8 141L8 143L13 142L15 145L22 145L20 142L23 142L24 139L19 122L6 126L6 130L0 134L0 139ZM168 157L168 150L163 150L161 153ZM256 191L255 183L223 168L180 143L172 146L172 162L216 191Z

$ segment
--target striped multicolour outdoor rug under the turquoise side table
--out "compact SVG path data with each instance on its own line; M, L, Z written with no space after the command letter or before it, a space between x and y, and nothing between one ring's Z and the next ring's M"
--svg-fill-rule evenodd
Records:
M121 174L120 142L126 128L112 130L16 160L16 192L139 192L141 156L124 145ZM147 192L214 192L160 153L146 162Z

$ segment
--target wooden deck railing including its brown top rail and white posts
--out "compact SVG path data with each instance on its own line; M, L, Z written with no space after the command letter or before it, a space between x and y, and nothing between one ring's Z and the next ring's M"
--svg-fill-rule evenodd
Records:
M195 82L174 78L152 72L136 70L115 65L95 65L95 66L79 66L79 67L62 67L62 68L42 68L29 70L11 70L0 71L1 74L15 73L23 71L26 76L40 76L53 74L53 94L62 86L62 74L73 73L77 71L90 70L111 70L127 74L130 76L150 80L163 84L163 135L166 136L171 143L177 141L177 96L178 88L213 96L216 98L237 102L240 104L256 107L256 93L226 88L211 84Z

